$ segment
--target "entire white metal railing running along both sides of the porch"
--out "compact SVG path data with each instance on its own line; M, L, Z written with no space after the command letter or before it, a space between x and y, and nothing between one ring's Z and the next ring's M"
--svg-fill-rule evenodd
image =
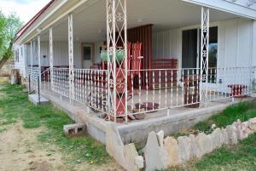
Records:
M201 68L128 70L128 112L117 117L162 110L169 115L171 108L196 108L211 101L249 95L254 70L254 67L209 68L208 83L201 83ZM28 68L27 72L32 75L32 87L36 89L38 68ZM107 75L107 70L74 69L73 100L112 115L113 102L109 97L113 95L113 88L108 92ZM51 85L55 93L69 97L68 68L53 68L52 76L47 69L41 79L41 89L50 89ZM200 96L202 88L207 88L205 96ZM116 107L122 111L122 106Z

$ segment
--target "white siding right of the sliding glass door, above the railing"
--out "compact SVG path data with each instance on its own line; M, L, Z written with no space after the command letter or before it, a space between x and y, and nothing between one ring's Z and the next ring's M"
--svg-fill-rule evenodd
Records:
M226 20L218 27L218 67L252 66L252 20Z

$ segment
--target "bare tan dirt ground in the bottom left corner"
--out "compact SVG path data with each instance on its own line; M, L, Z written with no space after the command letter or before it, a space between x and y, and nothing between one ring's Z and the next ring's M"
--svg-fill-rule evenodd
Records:
M38 144L36 135L43 128L26 129L22 123L15 123L4 129L0 133L0 170L121 170L116 163L96 166L67 162L55 145Z

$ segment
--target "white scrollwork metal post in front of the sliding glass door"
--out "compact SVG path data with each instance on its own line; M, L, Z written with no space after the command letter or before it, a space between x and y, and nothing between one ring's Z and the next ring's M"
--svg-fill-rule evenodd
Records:
M201 8L201 88L200 100L207 105L208 52L209 52L209 9Z

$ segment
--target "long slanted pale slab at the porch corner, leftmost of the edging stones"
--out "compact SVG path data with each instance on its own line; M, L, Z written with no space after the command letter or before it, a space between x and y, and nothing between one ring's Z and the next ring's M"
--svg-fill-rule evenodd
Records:
M106 128L106 150L119 165L125 168L124 143L114 123L108 123Z

